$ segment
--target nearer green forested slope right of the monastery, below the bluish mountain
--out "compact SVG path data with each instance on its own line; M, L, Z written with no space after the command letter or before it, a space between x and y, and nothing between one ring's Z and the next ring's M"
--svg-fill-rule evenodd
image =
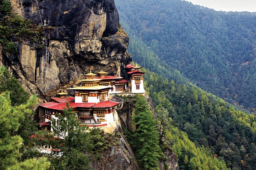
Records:
M172 118L164 137L172 146L182 168L256 168L254 115L235 109L200 88L168 82L148 70L144 80L150 87L148 89L156 112L161 115L161 111L167 109ZM188 158L185 158L186 155ZM207 165L204 159L209 161Z

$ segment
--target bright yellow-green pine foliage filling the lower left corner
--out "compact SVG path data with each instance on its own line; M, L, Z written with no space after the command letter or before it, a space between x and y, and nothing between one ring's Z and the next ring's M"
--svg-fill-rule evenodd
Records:
M20 122L24 120L24 114L31 114L31 107L34 106L34 99L30 99L26 104L11 106L10 95L0 94L0 169L46 169L50 163L45 158L36 160L28 159L25 162L18 160L22 156L22 138L15 135L20 127Z

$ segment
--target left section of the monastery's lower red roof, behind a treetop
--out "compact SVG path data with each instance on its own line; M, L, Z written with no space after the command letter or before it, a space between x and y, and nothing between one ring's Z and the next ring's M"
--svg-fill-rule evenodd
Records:
M70 107L73 109L76 107L84 107L84 108L90 108L94 106L96 103L75 103L74 101L69 102ZM66 103L57 103L57 102L47 102L40 105L41 107L44 107L46 109L54 109L54 110L63 110L63 108L66 108Z

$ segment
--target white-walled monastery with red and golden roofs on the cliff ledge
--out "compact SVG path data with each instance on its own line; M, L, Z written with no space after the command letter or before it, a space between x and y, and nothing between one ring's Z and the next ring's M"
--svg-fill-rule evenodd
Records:
M118 118L116 108L119 102L108 100L113 94L143 94L143 74L140 66L128 64L126 67L128 80L120 76L106 76L107 72L101 70L97 74L91 71L85 75L85 79L80 80L84 85L69 88L74 90L73 96L66 96L66 93L58 93L58 97L51 98L51 102L41 104L40 113L44 115L44 122L39 123L42 128L51 130L51 119L58 117L56 113L62 113L66 103L77 113L80 125L86 125L90 128L100 127L106 130L109 127L116 126Z

